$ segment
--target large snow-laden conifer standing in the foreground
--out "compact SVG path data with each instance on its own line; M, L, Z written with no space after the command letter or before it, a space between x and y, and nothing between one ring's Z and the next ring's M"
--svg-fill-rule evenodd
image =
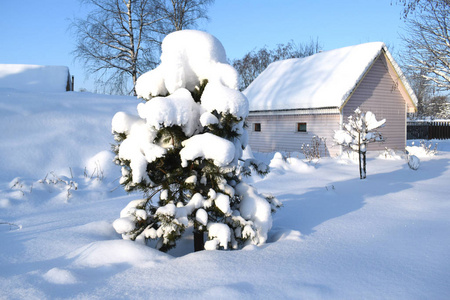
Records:
M192 226L196 251L266 241L279 202L242 181L268 167L242 160L248 101L237 76L215 37L184 30L164 39L161 64L137 81L139 116L112 121L121 184L145 195L113 223L124 239L167 251Z

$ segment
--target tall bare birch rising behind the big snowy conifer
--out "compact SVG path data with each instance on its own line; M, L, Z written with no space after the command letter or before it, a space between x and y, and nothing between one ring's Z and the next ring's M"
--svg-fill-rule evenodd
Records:
M72 26L73 54L94 74L102 92L135 94L140 74L159 63L161 40L168 33L207 18L213 0L81 0L92 7ZM132 88L129 85L132 85Z

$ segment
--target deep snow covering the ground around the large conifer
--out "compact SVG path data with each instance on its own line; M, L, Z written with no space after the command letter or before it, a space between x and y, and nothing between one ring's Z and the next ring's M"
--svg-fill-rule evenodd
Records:
M0 299L450 297L450 141L417 171L371 153L365 180L345 157L255 153L271 173L249 181L283 202L268 243L165 254L112 227L141 195L118 184L111 119L138 102L0 89Z

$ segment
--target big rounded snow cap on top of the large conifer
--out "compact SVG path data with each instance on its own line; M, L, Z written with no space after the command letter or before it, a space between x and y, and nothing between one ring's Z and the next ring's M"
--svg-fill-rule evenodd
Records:
M172 94L179 88L192 91L203 80L237 90L238 73L227 63L225 48L214 36L197 30L177 31L163 40L161 50L161 64L136 82L138 97Z

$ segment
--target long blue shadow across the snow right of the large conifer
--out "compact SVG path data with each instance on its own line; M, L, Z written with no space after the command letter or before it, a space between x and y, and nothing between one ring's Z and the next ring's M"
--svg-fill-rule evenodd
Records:
M393 172L369 173L364 180L355 177L330 182L304 194L277 195L283 207L274 215L274 227L268 242L276 242L283 233L291 230L310 235L318 225L359 210L367 198L410 189L413 183L437 178L448 168L450 162L447 159L422 161L417 171L411 170L405 163L403 168Z

